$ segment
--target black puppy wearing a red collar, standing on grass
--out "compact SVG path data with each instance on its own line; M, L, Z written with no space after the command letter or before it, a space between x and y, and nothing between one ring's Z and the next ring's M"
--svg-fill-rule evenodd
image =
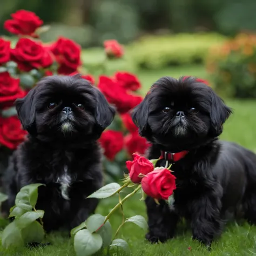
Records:
M174 203L146 199L151 242L172 238L180 217L193 238L210 246L231 214L256 223L256 155L218 136L231 109L193 77L160 78L133 111L133 121L152 147L149 159L172 163ZM242 210L242 211L241 211Z

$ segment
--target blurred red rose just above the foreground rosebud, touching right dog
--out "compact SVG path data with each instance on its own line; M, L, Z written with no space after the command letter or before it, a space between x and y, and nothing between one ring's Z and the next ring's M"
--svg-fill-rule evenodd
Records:
M149 148L150 143L141 136L138 132L133 132L125 136L124 138L125 148L129 154L138 152L139 154L145 154Z

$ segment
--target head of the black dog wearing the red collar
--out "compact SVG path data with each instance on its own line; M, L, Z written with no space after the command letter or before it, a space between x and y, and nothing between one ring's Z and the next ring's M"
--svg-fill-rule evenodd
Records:
M166 150L185 150L219 136L228 108L196 78L160 78L133 111L140 134Z

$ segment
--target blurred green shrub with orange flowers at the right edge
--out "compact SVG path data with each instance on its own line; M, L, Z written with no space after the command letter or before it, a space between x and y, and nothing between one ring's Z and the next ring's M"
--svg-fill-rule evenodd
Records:
M228 97L256 98L256 35L239 34L207 60L217 92Z

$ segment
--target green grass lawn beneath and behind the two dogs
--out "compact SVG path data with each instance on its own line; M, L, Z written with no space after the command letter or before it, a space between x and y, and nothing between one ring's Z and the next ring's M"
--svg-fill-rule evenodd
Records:
M185 68L170 68L162 71L139 72L138 76L143 83L143 93L160 76L178 77L181 75L194 75L207 78L205 70L201 66L188 66ZM221 138L237 142L248 149L256 151L256 102L252 100L226 100L226 103L233 108L233 115L227 120L224 133ZM118 203L118 198L102 200L97 212L103 215L111 210ZM145 206L139 201L139 196L134 197L124 204L126 217L136 214L144 215ZM113 230L116 230L122 221L120 212L114 214L111 218ZM172 239L165 244L151 245L144 239L145 232L136 225L125 224L118 237L129 242L131 255L134 256L171 256L171 255L212 255L212 256L234 256L234 255L256 255L256 227L249 226L246 223L230 223L226 226L220 239L213 242L212 251L208 252L205 247L200 246L197 241L192 241L191 231L185 225L178 228L177 238ZM75 252L72 247L72 239L65 233L52 233L46 237L52 242L52 245L44 248L20 248L17 250L4 251L0 246L0 255L9 256L73 256ZM191 247L191 250L187 248ZM96 254L98 256L106 255L104 252ZM124 255L122 252L111 251L109 255Z

